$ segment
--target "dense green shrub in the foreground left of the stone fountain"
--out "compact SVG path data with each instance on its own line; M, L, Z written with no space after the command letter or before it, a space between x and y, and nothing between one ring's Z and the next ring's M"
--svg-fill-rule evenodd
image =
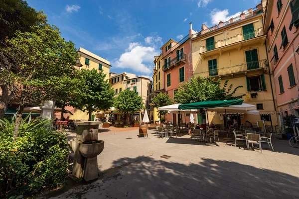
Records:
M0 119L0 198L56 188L67 176L65 135L48 131L50 120L26 119L22 120L15 142L14 119L11 122Z

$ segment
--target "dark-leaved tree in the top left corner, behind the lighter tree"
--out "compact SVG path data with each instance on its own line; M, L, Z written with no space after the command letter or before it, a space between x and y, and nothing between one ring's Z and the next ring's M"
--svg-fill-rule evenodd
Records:
M47 16L43 11L29 7L24 0L0 0L0 47L5 47L5 39L14 36L16 30L29 32L33 25L44 25ZM13 94L0 82L0 118L4 115Z

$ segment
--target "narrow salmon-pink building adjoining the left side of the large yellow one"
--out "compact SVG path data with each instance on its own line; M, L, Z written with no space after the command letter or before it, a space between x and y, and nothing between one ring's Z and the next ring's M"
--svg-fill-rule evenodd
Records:
M160 49L162 50L163 88L170 98L174 97L179 85L190 81L193 75L191 38L186 35L179 42L170 39ZM179 120L189 122L189 117L183 114L167 114L165 120L178 124Z

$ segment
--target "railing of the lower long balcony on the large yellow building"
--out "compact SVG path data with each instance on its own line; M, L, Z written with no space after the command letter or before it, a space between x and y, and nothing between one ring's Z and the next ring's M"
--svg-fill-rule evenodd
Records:
M200 73L194 73L194 76L224 76L224 75L230 75L234 73L239 73L239 72L245 72L245 71L250 71L254 69L262 69L266 68L266 59L254 61L254 62L247 62L235 66L230 66L226 68L220 68L220 69L212 69Z

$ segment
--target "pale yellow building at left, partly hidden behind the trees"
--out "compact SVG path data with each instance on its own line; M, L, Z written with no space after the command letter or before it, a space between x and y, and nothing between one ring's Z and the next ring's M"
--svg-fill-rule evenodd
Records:
M110 73L110 62L106 59L80 47L78 50L79 54L79 60L80 63L83 65L82 67L79 67L78 69L81 70L83 68L85 69L97 69L99 72L103 71L104 74L106 74L105 79L109 79L109 73ZM69 108L70 111L73 113L73 115L70 115L70 119L80 119L80 120L88 120L88 114L87 112L83 112L79 109L75 109L73 107L66 107ZM68 114L65 114L68 116ZM92 120L95 118L95 113L92 115Z

